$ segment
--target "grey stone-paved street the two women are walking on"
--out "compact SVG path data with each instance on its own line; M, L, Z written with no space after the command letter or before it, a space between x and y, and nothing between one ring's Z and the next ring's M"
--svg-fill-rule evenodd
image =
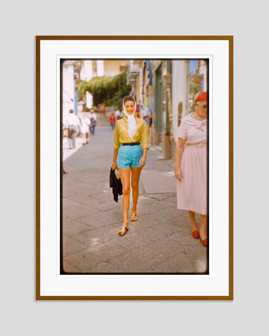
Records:
M206 248L191 235L187 211L176 208L172 160L151 148L142 170L138 220L124 237L122 196L113 200L109 172L113 156L110 126L96 126L95 135L76 151L64 145L63 268L72 273L201 273ZM67 138L64 138L66 143ZM68 153L67 153L68 152ZM129 218L131 216L130 200ZM199 216L197 216L199 227Z

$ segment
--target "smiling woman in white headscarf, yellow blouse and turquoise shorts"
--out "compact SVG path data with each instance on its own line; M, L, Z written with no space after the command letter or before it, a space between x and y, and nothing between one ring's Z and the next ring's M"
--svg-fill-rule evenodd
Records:
M123 100L125 116L123 119L116 121L114 132L114 156L111 168L112 170L119 168L123 186L123 225L118 232L119 236L124 236L129 229L130 175L133 196L131 221L134 222L138 219L136 206L139 195L139 177L146 163L147 150L149 149L147 124L144 120L137 118L135 110L136 102L134 98L131 96L126 97ZM116 163L117 156L118 165Z

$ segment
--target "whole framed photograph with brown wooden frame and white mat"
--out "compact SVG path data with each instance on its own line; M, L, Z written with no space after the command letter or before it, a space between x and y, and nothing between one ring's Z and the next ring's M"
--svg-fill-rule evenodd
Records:
M36 36L36 300L233 300L232 36Z

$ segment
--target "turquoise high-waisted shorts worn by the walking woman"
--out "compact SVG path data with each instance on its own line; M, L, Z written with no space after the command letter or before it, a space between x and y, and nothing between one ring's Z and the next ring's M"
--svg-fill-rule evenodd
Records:
M140 145L121 146L118 153L119 168L137 168L139 160L143 156L142 147Z

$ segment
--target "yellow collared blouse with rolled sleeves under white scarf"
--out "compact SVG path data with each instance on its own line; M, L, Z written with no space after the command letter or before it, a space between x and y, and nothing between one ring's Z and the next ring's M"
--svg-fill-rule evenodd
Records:
M133 140L128 134L127 117L124 116L122 119L116 121L113 145L114 149L118 150L121 146L121 143L129 142L141 142L142 149L149 149L147 124L145 120L137 118L136 114L134 117L136 121L136 133Z

